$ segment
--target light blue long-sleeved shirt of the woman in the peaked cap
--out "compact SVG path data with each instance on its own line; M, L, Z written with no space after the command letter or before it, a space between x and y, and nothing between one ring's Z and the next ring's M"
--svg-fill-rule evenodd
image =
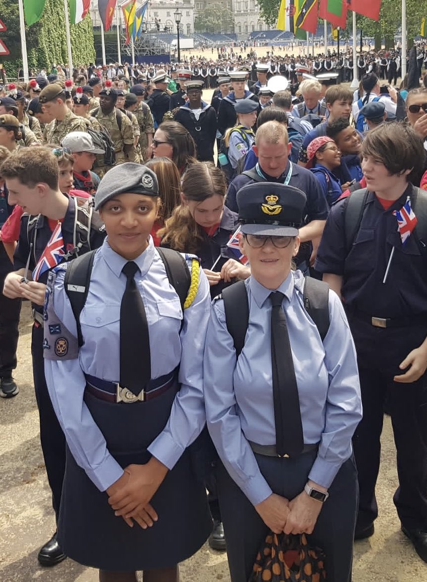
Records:
M225 323L224 302L213 303L204 350L207 426L228 473L253 505L272 493L248 440L275 445L271 375L271 293L252 276L246 280L249 327L236 362ZM304 278L291 272L284 293L297 377L304 442L319 442L309 478L330 487L352 452L351 438L362 418L354 343L340 299L329 292L330 327L324 342L303 302Z

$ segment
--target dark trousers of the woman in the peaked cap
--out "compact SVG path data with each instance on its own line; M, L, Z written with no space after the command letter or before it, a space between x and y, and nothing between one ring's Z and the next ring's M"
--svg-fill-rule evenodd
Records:
M293 499L304 489L316 451L295 459L255 456L273 492ZM217 478L231 582L247 582L269 528L220 462ZM309 545L322 548L326 553L328 582L351 582L358 500L357 471L353 458L341 466L329 493L315 530L307 536L307 540Z

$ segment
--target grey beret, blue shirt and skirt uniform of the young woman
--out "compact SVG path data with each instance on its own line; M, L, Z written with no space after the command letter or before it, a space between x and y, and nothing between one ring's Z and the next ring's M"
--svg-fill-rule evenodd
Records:
M112 168L98 187L95 207L129 192L157 197L154 172L136 164ZM146 396L128 398L126 388L118 384L126 262L108 239L94 255L80 314L80 349L64 290L65 269L57 268L48 284L45 328L50 346L45 350L47 382L68 445L58 537L77 562L121 572L176 565L200 548L212 527L206 490L202 480L196 480L188 450L205 423L203 346L209 283L197 265L195 297L182 311L151 237L135 258L139 272L134 278L149 328L151 379L141 386ZM62 342L50 332L52 325L61 327ZM105 490L129 463L144 464L151 456L169 469L153 497L162 517L147 530L130 528L115 517ZM177 536L182 523L185 535Z

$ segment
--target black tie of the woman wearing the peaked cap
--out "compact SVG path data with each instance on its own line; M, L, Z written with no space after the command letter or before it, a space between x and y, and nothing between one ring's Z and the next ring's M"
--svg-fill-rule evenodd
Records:
M297 378L282 309L284 294L270 293L271 305L271 368L273 371L274 423L276 449L280 456L298 455L304 448Z

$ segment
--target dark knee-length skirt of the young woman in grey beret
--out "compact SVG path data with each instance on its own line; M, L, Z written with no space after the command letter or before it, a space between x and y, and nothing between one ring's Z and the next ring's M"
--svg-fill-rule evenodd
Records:
M112 404L85 395L107 448L121 467L150 460L147 446L163 430L176 389L149 402ZM203 481L196 478L187 449L151 500L158 514L153 527L130 528L116 517L108 496L77 466L67 448L58 523L64 553L85 566L118 572L175 566L192 556L212 529Z

